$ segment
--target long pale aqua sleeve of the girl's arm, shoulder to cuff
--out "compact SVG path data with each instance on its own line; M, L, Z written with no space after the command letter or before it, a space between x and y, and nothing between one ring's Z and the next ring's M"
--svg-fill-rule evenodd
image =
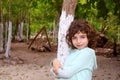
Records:
M57 78L71 78L77 73L82 71L90 71L92 75L93 69L96 67L96 56L92 49L77 50L70 54L64 63L63 69L58 70L58 75L54 74ZM81 75L82 76L82 75Z

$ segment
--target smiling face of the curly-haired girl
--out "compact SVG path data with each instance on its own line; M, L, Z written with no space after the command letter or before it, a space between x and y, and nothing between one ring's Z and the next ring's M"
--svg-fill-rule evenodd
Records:
M83 49L88 46L88 38L86 33L78 32L72 37L72 44L77 49Z

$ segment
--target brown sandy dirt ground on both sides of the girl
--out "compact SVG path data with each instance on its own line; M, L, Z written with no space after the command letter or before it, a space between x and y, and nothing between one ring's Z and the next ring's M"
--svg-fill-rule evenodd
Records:
M56 52L37 52L27 43L12 43L11 60L0 54L0 80L54 80L49 73ZM16 62L18 60L18 62ZM93 80L120 80L120 61L115 57L97 56L98 69Z

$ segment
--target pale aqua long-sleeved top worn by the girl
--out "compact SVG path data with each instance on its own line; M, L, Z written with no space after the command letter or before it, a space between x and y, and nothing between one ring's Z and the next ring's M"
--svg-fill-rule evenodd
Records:
M67 57L63 69L58 70L58 75L52 74L58 80L92 80L92 72L97 68L95 51L91 48L74 49Z

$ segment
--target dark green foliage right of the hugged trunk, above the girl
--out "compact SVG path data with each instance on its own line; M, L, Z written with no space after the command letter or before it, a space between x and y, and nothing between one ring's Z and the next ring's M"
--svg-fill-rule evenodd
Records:
M75 18L88 20L94 28L104 32L108 38L118 39L116 35L120 27L120 1L119 0L79 0ZM118 40L119 41L119 40Z

